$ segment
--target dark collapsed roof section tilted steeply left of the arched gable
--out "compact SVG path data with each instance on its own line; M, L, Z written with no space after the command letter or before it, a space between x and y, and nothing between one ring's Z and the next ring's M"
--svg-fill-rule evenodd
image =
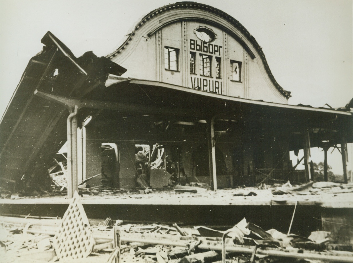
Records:
M45 176L52 154L66 141L63 123L68 110L65 105L35 96L36 89L81 98L104 86L108 74L121 76L126 72L125 68L92 52L76 58L49 31L41 42L43 49L30 59L0 121L0 177L3 178L19 180L34 173Z

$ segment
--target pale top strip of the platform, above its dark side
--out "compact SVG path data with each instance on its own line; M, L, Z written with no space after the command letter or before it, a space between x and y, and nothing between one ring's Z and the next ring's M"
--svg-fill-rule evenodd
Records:
M239 193L254 192L256 196L234 196ZM19 199L0 199L1 204L68 204L66 197L20 197ZM287 206L309 205L323 208L353 208L353 192L298 192L295 194L273 195L270 190L246 188L244 190L201 189L198 193L175 193L156 191L148 194L121 193L106 191L95 196L81 198L83 204L91 205L256 205Z

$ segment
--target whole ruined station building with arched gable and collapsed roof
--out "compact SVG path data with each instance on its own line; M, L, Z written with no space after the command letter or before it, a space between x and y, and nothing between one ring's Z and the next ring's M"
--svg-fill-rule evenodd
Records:
M259 43L221 10L153 10L101 58L75 57L51 32L41 42L0 122L1 187L46 190L66 141L68 198L89 178L90 187L130 190L308 183L310 148L323 148L327 163L336 145L347 183L349 105L289 105ZM303 171L289 159L299 150Z

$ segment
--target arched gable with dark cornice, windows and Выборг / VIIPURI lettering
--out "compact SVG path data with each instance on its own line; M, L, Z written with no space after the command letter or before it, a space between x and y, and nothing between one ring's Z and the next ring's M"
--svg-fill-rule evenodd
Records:
M107 57L132 78L251 100L287 104L290 97L249 31L221 10L195 2L150 12Z

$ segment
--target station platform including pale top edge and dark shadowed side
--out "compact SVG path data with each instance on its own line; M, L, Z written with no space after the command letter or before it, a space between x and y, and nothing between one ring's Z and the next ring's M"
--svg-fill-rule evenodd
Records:
M81 202L92 219L121 219L131 222L178 222L181 225L232 226L244 217L263 227L287 232L295 211L292 233L307 236L322 229L325 214L353 218L353 193L300 192L273 195L270 190L253 189L256 196L234 196L252 189L201 190L198 193L158 191L149 194L103 192L84 196ZM104 194L104 195L103 195ZM36 216L64 215L66 197L1 199L1 214Z

